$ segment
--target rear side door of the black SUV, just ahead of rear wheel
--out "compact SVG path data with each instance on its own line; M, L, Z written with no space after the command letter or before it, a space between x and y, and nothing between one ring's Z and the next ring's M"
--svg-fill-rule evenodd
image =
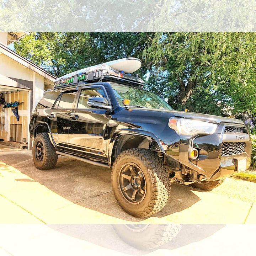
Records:
M57 148L64 150L68 150L69 117L75 96L76 91L63 91L46 117Z

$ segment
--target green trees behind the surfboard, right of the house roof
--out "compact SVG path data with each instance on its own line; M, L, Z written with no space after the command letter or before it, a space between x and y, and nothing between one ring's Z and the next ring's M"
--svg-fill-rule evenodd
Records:
M125 57L142 59L145 33L32 32L14 43L17 53L56 76ZM146 65L139 71L143 76Z

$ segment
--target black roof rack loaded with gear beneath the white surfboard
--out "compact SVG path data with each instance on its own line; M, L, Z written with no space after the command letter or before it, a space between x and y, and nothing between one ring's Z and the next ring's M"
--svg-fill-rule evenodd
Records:
M54 89L57 88L65 88L71 85L79 85L84 84L85 82L102 82L102 81L112 81L112 82L119 82L122 84L129 84L132 86L137 86L142 88L144 85L144 81L140 79L137 74L130 75L118 72L112 68L105 68L98 69L95 71L90 71L88 73L80 73L71 76L70 78L61 78L57 79L54 82Z

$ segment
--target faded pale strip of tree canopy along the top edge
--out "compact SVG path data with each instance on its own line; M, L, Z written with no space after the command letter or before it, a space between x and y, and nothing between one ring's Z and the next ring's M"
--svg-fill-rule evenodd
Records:
M0 0L0 31L255 31L255 10L254 0Z

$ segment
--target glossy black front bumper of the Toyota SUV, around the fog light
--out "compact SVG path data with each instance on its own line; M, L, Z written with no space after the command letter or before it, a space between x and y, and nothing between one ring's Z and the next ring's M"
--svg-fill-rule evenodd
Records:
M179 164L185 165L189 169L196 171L198 174L206 177L205 180L213 181L238 173L238 158L246 159L246 168L250 166L251 156L251 139L248 134L242 137L236 137L239 133L224 134L226 126L239 126L238 124L220 123L216 132L209 135L197 135L196 137L188 137L178 135L176 140L171 143L164 142L165 161L172 169L178 170L173 164L174 159ZM244 128L244 126L240 125ZM244 130L246 132L246 129ZM240 154L222 156L222 144L227 139L230 142L244 142L244 152ZM199 158L191 160L188 158L188 149L190 147L199 150ZM202 177L203 177L202 176Z

